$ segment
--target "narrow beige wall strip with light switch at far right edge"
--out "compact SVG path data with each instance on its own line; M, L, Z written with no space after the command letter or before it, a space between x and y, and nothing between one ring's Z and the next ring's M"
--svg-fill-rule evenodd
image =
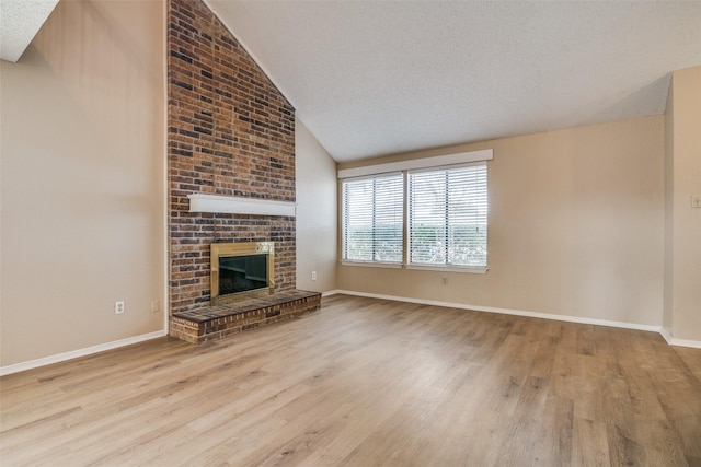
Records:
M665 328L701 341L701 67L673 73L666 117Z

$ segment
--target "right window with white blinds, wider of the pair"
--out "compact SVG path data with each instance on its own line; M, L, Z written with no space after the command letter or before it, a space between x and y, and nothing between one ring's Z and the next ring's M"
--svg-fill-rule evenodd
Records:
M410 265L486 268L486 164L409 173Z

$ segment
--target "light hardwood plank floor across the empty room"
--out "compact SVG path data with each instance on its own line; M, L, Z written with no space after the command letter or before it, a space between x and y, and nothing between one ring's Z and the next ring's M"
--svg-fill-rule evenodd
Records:
M0 385L2 466L701 466L701 350L344 295Z

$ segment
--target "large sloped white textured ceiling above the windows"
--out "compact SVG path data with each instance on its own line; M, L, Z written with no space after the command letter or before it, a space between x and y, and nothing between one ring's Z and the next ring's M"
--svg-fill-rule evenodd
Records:
M206 3L340 162L664 112L701 1Z

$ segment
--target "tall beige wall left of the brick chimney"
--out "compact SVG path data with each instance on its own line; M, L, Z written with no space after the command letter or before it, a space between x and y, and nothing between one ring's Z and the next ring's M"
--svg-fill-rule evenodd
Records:
M163 329L163 17L61 1L0 62L2 366Z

